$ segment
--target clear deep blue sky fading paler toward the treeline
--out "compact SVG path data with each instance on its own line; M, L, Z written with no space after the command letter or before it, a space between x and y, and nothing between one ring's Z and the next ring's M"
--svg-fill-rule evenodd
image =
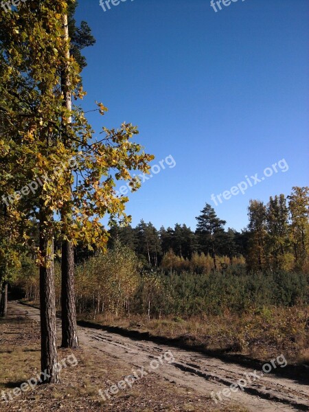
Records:
M133 225L194 229L210 203L239 230L251 198L308 185L308 0L238 0L217 12L209 0L126 0L106 12L99 0L79 3L97 41L84 53L83 106L109 109L91 124L131 122L153 165L176 162L130 194ZM211 200L245 176L244 194Z

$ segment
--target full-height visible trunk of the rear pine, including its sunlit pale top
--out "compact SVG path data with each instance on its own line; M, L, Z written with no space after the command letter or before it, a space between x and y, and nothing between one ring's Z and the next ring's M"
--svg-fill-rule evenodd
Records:
M65 30L65 41L69 42L69 27L67 14L64 14L63 26ZM65 96L65 107L69 112L72 110L71 84L69 81L69 43L66 49L66 67L61 73L61 89ZM67 123L71 123L71 116ZM71 172L70 172L71 173ZM71 190L71 176L69 176L68 190ZM64 215L69 205L64 207ZM62 347L76 349L78 347L78 332L76 324L76 296L74 280L74 249L68 240L62 241L62 265L61 265L61 319L62 319Z

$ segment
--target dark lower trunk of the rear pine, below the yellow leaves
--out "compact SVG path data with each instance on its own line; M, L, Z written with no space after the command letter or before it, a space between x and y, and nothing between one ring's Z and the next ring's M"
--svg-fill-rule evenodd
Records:
M74 250L71 242L62 242L61 263L62 347L76 349L78 334L74 282Z

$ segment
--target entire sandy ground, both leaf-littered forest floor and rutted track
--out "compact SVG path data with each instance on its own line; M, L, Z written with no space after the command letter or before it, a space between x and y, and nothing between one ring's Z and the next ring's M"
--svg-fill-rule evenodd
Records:
M273 371L263 374L249 365L132 339L98 326L80 327L79 337L80 349L74 352L76 363L67 362L67 367L63 367L60 384L38 385L14 396L14 388L21 387L39 372L40 330L38 309L10 302L8 317L0 321L0 392L12 400L8 403L1 400L0 410L309 410L308 386L301 377L291 379ZM58 356L60 360L69 359L71 351L59 349ZM279 363L276 370L284 371ZM234 391L228 390L227 396L227 389L233 384ZM106 400L100 397L100 389Z

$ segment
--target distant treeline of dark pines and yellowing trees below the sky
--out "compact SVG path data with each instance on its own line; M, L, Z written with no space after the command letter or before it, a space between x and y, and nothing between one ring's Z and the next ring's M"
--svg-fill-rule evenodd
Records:
M308 187L293 187L290 196L271 197L267 205L251 201L249 225L241 232L231 228L225 230L225 220L220 220L211 205L206 204L196 218L196 231L178 223L174 228L157 230L151 222L141 220L135 228L113 227L109 231L108 245L113 246L118 239L145 264L155 267L163 264L194 271L194 266L198 268L199 265L190 265L189 261L197 261L198 255L203 253L211 256L215 270L240 262L243 257L253 271L284 269L308 273L308 194ZM221 262L222 265L218 256L228 259Z

